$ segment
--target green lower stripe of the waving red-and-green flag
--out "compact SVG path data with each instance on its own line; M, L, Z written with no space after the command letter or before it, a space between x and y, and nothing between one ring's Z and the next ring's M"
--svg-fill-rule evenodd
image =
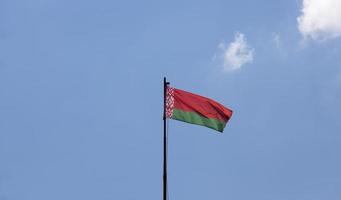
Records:
M225 125L226 125L226 123L223 121L219 121L217 119L212 119L212 118L206 118L206 117L199 115L196 112L182 111L176 108L173 111L172 118L183 121L183 122L187 122L190 124L206 126L208 128L214 129L219 132L223 132Z

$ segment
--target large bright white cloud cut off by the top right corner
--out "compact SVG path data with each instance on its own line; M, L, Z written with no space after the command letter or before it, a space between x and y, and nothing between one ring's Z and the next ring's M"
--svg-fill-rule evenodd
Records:
M326 40L341 36L341 0L303 0L297 18L304 38Z

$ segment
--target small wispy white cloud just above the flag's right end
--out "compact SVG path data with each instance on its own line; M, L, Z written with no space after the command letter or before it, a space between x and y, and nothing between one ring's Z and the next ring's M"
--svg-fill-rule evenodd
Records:
M254 50L247 44L244 34L236 33L234 41L228 46L224 42L218 45L225 70L232 71L240 69L243 65L253 61ZM214 59L217 55L214 56Z

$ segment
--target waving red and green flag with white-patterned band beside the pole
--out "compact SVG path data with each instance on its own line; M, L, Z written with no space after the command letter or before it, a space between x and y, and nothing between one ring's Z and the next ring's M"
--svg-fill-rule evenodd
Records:
M167 87L166 117L223 132L233 111L212 99Z

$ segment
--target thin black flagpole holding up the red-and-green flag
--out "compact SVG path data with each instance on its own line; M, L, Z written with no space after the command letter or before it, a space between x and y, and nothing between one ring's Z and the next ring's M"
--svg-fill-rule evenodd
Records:
M166 91L169 82L163 78L163 200L167 200L167 129L166 129Z

